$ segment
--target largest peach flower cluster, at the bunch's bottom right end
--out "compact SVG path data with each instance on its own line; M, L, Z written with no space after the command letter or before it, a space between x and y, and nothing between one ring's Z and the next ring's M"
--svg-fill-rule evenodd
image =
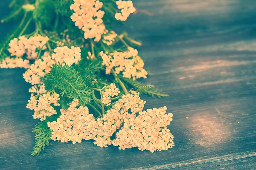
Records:
M119 149L138 147L139 150L168 150L174 146L173 136L167 125L172 121L172 113L166 107L139 112L136 118L125 119L124 125L116 133L111 143Z

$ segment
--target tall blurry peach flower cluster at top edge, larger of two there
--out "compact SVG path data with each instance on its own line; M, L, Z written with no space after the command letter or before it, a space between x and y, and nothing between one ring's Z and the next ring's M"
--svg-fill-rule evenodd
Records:
M100 10L103 3L99 0L74 0L70 9L74 11L71 16L75 25L84 31L84 38L95 38L98 42L102 34L106 34L103 23L104 11Z

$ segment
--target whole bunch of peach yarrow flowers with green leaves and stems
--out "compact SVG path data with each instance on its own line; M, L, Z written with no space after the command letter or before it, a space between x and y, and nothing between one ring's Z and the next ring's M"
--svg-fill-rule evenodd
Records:
M93 139L99 147L151 152L172 148L172 113L166 107L144 110L140 99L168 95L137 80L148 75L134 48L141 43L111 29L136 11L133 2L34 2L11 6L14 11L2 22L22 17L20 25L0 44L0 68L27 69L23 78L32 85L27 108L41 120L33 130L32 155L50 140Z

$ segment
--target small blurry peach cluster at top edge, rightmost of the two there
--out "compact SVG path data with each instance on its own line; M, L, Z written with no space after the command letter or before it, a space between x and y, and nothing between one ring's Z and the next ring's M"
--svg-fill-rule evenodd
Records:
M116 20L126 21L130 14L136 11L131 0L118 0L116 1L117 8L121 10L115 14Z

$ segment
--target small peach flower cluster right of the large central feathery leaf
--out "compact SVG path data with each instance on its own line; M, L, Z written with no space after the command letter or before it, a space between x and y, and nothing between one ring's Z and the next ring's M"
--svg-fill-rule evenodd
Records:
M111 97L118 96L119 94L119 88L116 87L115 83L111 83L111 85L105 86L104 91L102 91L101 101L109 106L111 104Z

